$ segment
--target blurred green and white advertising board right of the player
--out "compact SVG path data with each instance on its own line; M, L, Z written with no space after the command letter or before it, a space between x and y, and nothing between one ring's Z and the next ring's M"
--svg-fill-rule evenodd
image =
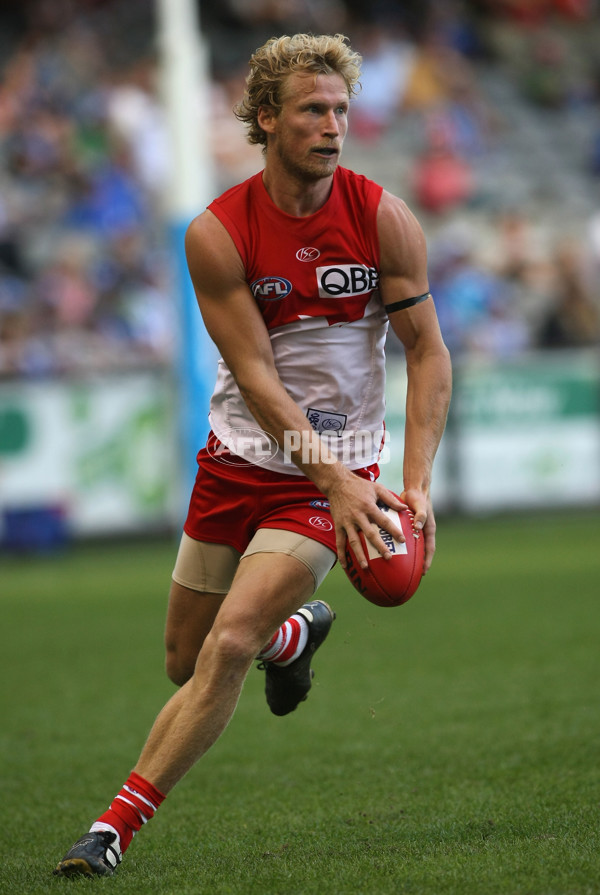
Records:
M382 466L391 487L402 483L405 399L404 362L394 359L388 365L388 455ZM455 365L432 495L439 510L468 513L598 504L597 354Z

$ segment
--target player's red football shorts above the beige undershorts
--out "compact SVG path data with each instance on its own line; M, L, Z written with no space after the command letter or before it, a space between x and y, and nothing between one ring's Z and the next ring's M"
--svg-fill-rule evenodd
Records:
M248 463L224 451L212 433L207 444L197 457L198 474L183 526L187 535L229 544L243 553L259 528L279 528L337 552L329 501L310 479ZM355 472L375 481L379 467L374 463Z

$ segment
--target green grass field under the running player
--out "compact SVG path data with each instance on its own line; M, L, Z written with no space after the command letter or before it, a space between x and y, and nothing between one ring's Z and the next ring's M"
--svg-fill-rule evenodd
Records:
M0 893L600 893L599 546L594 515L442 521L395 610L336 569L308 702L270 715L253 669L219 743L93 882L51 870L173 692L175 544L3 558Z

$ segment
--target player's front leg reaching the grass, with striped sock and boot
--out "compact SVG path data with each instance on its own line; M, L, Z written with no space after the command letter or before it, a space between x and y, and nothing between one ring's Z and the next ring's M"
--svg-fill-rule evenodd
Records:
M95 824L97 832L79 840L55 873L112 872L133 834L223 732L256 655L313 590L314 576L295 557L256 554L240 562L192 677L159 713L133 773L100 819L107 831Z

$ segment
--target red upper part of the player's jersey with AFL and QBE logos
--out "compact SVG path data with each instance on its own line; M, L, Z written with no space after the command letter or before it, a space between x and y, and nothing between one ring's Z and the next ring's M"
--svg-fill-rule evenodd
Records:
M281 211L262 172L209 205L233 239L269 329L310 317L362 317L379 278L382 188L338 168L325 205L307 217Z

